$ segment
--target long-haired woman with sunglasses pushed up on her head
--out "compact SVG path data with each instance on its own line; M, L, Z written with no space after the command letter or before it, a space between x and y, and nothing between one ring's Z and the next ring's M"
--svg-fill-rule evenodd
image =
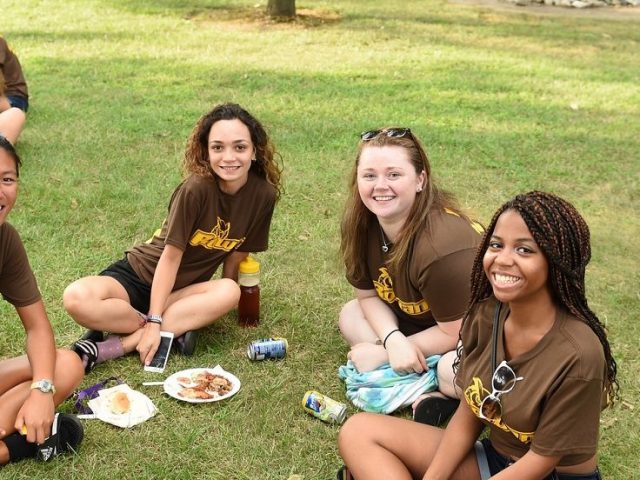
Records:
M339 318L348 358L360 372L389 362L420 373L426 357L445 354L440 393L415 408L416 420L439 424L458 404L445 395L455 395L453 350L482 229L438 188L409 128L362 133L350 183L341 250L356 298Z

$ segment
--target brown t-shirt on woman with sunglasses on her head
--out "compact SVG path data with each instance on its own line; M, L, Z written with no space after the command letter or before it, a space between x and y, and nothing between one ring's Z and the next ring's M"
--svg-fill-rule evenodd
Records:
M410 247L408 268L391 277L385 263L392 250L382 252L380 226L372 218L365 252L367 272L362 278L347 278L355 288L375 289L406 335L436 322L462 318L469 302L471 267L481 229L449 212L434 212L430 221L432 233L420 233Z

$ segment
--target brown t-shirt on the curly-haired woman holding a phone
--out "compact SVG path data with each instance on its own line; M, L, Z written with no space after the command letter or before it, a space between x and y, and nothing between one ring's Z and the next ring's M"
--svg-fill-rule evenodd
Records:
M174 289L211 279L233 251L267 249L276 190L249 173L235 195L220 190L213 178L191 175L173 192L161 229L127 252L133 270L151 285L165 244L183 251Z

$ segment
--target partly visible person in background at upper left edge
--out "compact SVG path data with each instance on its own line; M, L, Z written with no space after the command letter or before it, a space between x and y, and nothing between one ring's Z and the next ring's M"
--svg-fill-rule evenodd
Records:
M13 145L27 119L29 92L18 57L0 37L0 134Z

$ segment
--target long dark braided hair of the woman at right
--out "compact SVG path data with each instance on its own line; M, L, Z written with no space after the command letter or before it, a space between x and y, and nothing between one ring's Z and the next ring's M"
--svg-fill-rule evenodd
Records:
M591 259L589 227L575 207L551 193L533 191L516 196L498 209L487 227L471 273L471 300L464 321L476 304L493 294L482 260L500 215L514 210L522 217L549 264L549 288L556 304L585 322L597 335L607 363L606 393L618 396L617 365L604 325L591 311L585 296L585 271ZM459 358L459 356L458 356Z

